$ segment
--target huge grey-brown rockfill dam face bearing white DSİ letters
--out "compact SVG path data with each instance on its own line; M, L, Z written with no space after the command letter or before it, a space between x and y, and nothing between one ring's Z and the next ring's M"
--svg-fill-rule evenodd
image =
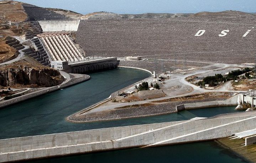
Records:
M256 16L244 12L198 13L170 19L82 20L77 42L89 54L252 63ZM194 36L205 30L202 36ZM225 37L221 31L229 30ZM246 37L242 37L251 30Z

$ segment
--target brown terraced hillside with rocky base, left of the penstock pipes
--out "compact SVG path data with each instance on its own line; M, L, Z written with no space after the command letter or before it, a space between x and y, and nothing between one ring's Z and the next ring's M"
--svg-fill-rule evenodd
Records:
M49 68L42 42L33 37L42 33L37 20L72 19L65 15L22 2L0 1L0 87L49 87L64 81L57 70Z

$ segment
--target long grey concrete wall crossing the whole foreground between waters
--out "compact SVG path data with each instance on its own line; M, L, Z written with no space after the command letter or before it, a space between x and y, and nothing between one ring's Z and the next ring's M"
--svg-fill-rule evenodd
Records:
M0 140L0 162L206 141L256 128L256 112Z

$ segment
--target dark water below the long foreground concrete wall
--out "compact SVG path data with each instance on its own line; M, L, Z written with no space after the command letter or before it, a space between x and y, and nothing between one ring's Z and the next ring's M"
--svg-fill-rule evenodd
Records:
M76 156L50 158L28 163L241 163L246 162L214 141L151 148L131 148Z

